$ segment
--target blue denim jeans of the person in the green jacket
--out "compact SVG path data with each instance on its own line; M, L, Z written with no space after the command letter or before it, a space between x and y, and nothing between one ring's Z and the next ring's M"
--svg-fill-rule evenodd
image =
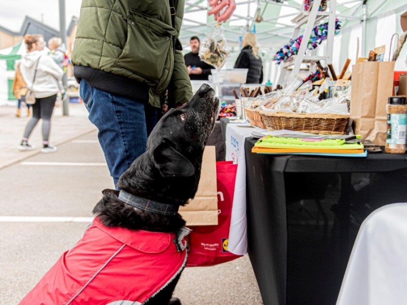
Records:
M130 164L146 151L147 137L157 123L157 109L113 95L80 81L80 97L98 128L99 143L114 185Z

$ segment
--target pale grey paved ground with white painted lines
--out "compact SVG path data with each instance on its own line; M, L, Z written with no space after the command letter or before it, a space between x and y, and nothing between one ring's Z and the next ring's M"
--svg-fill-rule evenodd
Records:
M50 217L91 217L101 190L112 187L83 106L71 106L69 117L62 117L61 111L56 108L52 142L64 144L55 154L44 155L39 149L17 151L26 119L15 118L14 108L0 107L0 304L18 303L88 226L86 220L55 222ZM37 146L39 134L37 128ZM15 216L45 219L10 218ZM187 268L175 295L184 305L262 304L247 256L214 267Z

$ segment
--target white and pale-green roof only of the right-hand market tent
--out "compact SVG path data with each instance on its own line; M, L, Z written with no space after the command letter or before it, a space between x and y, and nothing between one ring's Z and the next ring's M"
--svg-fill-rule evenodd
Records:
M400 8L407 10L405 0L336 0L336 2L336 13L338 19L342 21L342 28L360 24L363 3L367 4L367 19ZM279 48L292 37L291 20L303 11L303 0L236 0L236 4L236 11L225 24L225 35L232 46L240 45L240 37L245 32L254 32L261 47ZM207 11L207 0L186 1L181 31L184 45L189 44L191 36L205 37L214 26L215 21L212 16L207 16Z

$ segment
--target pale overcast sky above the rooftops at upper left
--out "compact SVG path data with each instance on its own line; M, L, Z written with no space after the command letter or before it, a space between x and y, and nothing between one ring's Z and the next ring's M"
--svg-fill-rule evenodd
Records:
M0 25L20 31L25 15L44 21L44 23L59 29L59 0L0 0ZM66 0L66 24L69 26L72 16L79 17L82 0Z

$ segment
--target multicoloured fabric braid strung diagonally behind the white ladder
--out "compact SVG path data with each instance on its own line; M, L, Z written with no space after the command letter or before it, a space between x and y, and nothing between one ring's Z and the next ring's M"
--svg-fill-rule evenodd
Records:
M335 35L339 34L341 26L340 23L341 21L335 19ZM315 49L325 39L327 39L327 37L328 37L328 22L316 25L312 29L307 49L308 50ZM290 39L286 45L284 45L276 54L274 54L273 60L277 62L277 64L280 64L283 60L287 60L291 56L296 55L300 48L302 38L303 36L301 35L297 39Z

